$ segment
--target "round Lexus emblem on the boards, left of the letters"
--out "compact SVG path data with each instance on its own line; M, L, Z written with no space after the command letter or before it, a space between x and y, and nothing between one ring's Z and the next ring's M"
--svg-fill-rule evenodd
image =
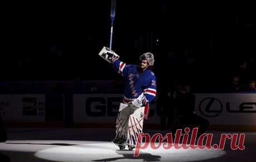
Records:
M206 117L217 117L223 110L223 105L217 98L205 98L199 103L199 112Z

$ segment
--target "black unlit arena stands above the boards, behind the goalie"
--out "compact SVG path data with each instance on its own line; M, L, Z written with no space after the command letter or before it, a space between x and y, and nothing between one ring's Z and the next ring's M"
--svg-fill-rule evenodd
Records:
M1 11L1 80L121 80L98 55L111 1L16 2ZM118 1L112 49L127 64L155 54L159 83L222 91L242 60L255 75L253 4ZM158 41L157 41L158 40ZM166 79L170 78L170 79Z

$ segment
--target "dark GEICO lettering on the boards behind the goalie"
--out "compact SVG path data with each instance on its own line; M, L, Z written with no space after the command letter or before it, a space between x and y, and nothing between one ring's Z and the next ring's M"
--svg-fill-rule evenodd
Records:
M122 98L120 97L92 97L86 98L85 109L86 114L89 116L95 117L102 117L102 116L109 116L109 117L116 117L120 102ZM157 115L160 116L160 112L156 112ZM149 117L155 115L155 110L150 109Z

